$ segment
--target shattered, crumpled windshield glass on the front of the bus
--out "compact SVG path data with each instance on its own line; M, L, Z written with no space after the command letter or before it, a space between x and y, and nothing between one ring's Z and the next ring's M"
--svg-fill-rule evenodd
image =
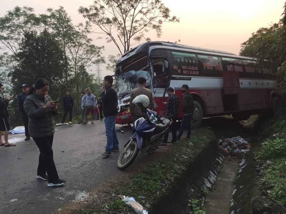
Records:
M151 85L151 75L147 71L147 69L138 71L130 70L122 75L115 74L117 84L117 96L120 97L130 94L132 89L137 88L139 77L146 78L146 86Z

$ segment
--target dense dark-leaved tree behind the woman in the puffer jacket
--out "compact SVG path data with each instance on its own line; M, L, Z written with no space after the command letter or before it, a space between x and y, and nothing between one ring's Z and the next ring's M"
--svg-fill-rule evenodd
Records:
M55 35L43 31L24 34L18 57L21 64L10 72L15 93L21 92L21 84L33 85L38 78L45 78L50 83L49 94L56 98L63 85L64 56Z

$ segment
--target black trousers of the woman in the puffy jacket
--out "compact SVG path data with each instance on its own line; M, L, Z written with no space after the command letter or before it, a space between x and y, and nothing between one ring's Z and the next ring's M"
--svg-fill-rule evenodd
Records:
M54 162L52 144L54 136L34 138L40 150L37 175L48 175L48 182L57 182L59 176Z

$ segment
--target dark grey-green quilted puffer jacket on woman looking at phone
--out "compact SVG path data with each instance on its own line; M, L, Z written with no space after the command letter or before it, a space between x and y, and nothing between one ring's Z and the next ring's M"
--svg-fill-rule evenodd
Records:
M38 96L35 92L24 101L24 110L29 117L29 134L31 137L52 136L55 133L55 120L53 115L57 114L51 108L44 109L43 106L52 99L49 95Z

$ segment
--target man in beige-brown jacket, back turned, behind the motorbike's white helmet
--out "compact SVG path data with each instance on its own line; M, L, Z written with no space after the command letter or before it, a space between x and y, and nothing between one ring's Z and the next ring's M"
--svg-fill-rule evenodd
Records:
M140 117L144 117L144 113L142 113L140 106L135 105L132 103L135 97L138 95L146 95L149 100L150 104L147 106L147 108L153 110L154 109L154 101L153 101L153 94L150 89L145 88L146 86L146 79L144 77L138 78L138 88L133 89L131 91L130 95L130 111L132 114L133 122L135 122L136 119L139 119Z

